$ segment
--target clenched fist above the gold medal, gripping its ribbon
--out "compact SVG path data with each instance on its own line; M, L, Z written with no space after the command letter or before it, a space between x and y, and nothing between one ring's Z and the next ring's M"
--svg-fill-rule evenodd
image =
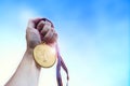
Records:
M53 24L47 18L36 18L28 22L26 30L27 48L35 48L36 45L44 42L49 45L56 43L57 33Z

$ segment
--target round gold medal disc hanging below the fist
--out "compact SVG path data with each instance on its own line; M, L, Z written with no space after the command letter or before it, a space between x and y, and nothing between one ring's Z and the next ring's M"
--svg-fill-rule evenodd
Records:
M34 48L34 58L39 66L50 68L56 61L55 48L47 44L39 44Z

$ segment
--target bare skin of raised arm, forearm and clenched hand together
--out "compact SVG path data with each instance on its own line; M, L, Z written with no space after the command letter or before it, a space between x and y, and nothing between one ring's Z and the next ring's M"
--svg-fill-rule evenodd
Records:
M27 48L20 62L15 73L6 82L5 86L38 86L41 67L36 63L32 57L32 51L36 45L44 41L48 45L55 47L57 33L49 22L42 22L42 18L30 19L26 29ZM36 25L39 25L36 27ZM44 24L44 27L41 26ZM41 30L39 30L42 28Z

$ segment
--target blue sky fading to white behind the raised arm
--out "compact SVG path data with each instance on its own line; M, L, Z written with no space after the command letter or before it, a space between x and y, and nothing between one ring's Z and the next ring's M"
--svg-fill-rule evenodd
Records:
M70 86L129 86L129 0L1 0L0 11L0 85L26 49L28 19L40 16L55 25ZM39 86L54 86L54 69Z

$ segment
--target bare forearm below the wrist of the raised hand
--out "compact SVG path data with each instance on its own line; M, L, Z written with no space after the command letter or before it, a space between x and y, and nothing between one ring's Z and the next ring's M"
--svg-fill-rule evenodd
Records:
M32 58L32 49L27 49L16 72L5 86L38 86L40 67Z

